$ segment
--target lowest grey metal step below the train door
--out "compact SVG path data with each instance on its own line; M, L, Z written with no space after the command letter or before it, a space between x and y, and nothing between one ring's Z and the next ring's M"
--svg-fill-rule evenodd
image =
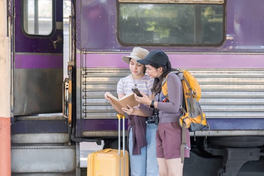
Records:
M76 175L75 145L15 144L11 160L12 175Z

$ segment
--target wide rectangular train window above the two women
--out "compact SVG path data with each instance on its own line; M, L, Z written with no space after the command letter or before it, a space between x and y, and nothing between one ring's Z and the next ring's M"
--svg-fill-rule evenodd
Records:
M215 3L119 0L119 41L124 45L221 45L225 6L223 0L209 1Z

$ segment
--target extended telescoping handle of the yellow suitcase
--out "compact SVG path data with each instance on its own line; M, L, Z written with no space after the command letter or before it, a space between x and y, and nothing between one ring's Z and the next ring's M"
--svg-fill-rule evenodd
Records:
M123 157L124 157L124 175L126 175L126 159L125 159L125 116L124 114L117 114L118 118L118 154L119 158L121 158L121 129L120 129L120 124L121 124L121 117L123 119ZM119 173L121 175L121 159L119 160Z

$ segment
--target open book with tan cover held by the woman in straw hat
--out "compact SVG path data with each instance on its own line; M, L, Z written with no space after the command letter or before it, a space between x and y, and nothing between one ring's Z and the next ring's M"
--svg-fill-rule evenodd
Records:
M135 100L134 94L129 94L122 97L120 100L111 94L106 94L108 98L112 100L112 103L118 106L119 108L128 108L127 105L134 107L139 103Z

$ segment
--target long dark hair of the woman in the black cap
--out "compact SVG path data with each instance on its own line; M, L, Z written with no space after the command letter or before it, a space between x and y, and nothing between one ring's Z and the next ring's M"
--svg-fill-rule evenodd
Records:
M152 63L150 64L151 66L153 66L154 68L159 68L162 67L163 73L161 74L160 77L155 77L154 78L154 83L153 83L153 87L151 89L151 92L154 94L160 93L161 91L161 84L162 84L162 80L163 78L171 71L173 71L170 61L168 60L166 65L160 65L160 64L155 64Z

